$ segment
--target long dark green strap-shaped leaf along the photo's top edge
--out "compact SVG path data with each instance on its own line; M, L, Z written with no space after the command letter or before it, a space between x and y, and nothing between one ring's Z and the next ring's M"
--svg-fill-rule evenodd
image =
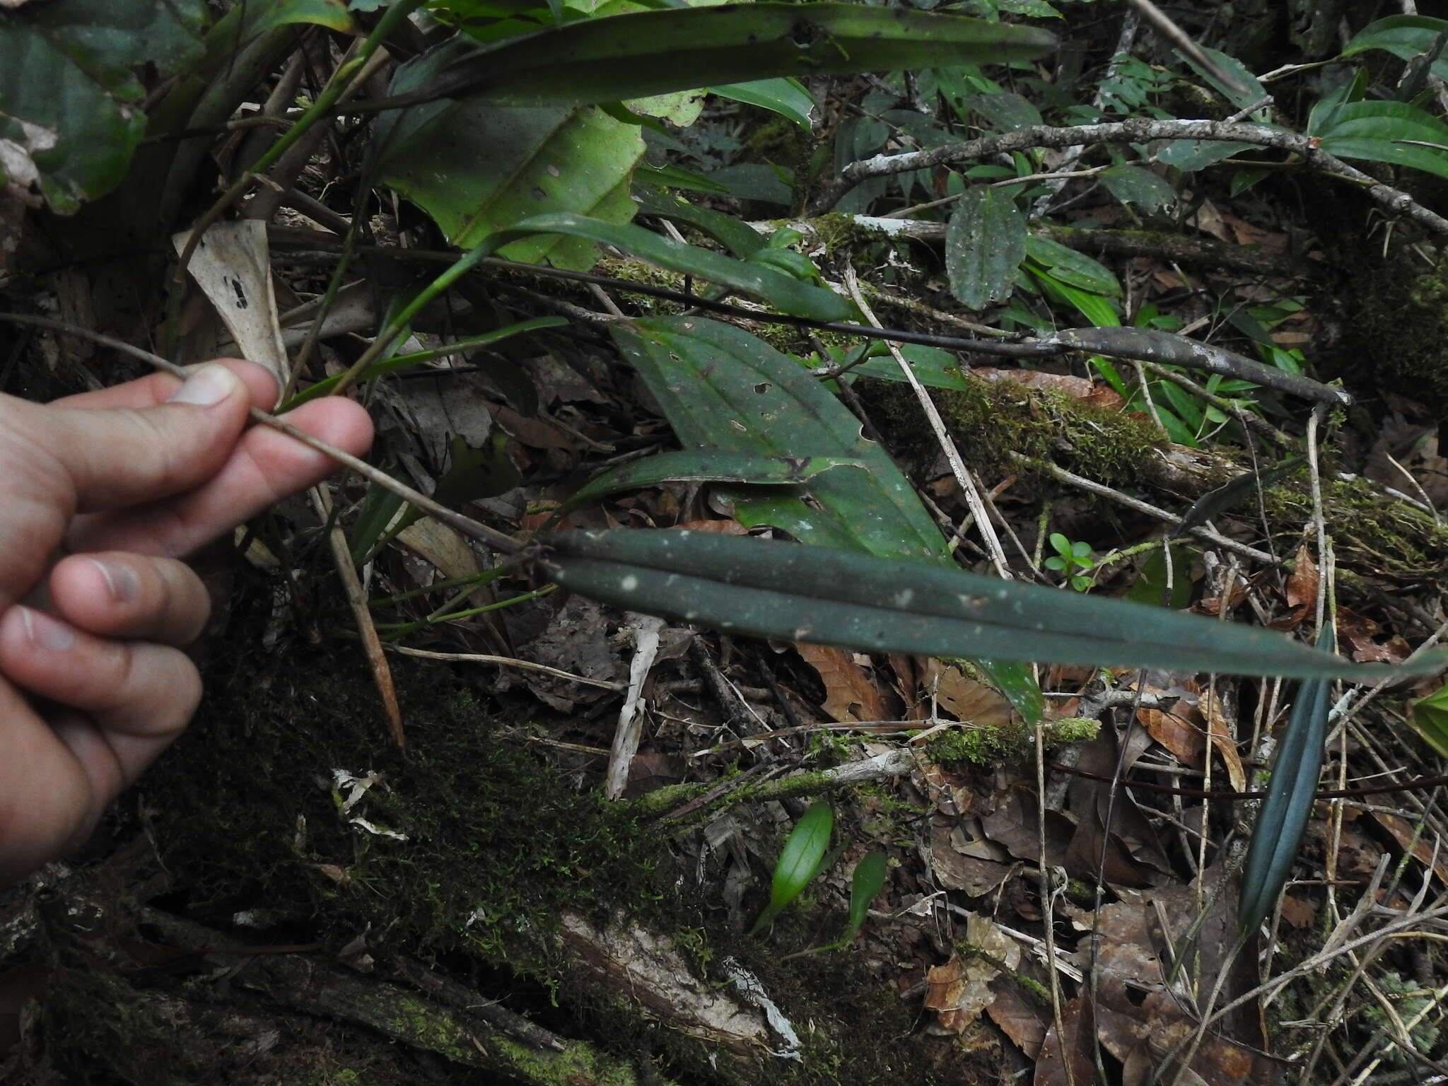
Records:
M1050 52L1027 26L849 3L639 12L511 38L452 61L429 94L579 106L782 75L851 75Z

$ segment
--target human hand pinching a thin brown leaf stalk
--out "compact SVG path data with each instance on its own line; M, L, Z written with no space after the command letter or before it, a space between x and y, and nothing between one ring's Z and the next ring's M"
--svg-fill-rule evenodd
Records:
M246 429L275 397L236 359L184 385L155 374L43 405L0 395L0 885L84 844L195 711L181 646L210 601L178 556L336 469ZM372 440L340 397L287 421L352 453Z

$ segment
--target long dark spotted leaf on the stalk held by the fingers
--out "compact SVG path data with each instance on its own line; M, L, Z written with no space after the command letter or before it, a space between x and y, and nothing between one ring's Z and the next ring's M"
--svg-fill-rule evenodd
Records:
M1383 679L1444 665L1442 653L1396 668L1351 663L1273 630L919 559L699 531L565 531L539 543L540 569L594 599L862 652L1287 678Z

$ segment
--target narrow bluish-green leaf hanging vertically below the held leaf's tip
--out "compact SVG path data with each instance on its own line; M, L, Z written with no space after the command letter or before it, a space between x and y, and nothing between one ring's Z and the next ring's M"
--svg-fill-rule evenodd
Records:
M1323 627L1318 643L1331 650L1335 639ZM1297 688L1287 730L1273 762L1267 798L1257 811L1253 840L1242 866L1242 893L1237 918L1245 935L1271 912L1277 895L1287 885L1297 846L1312 815L1312 802L1322 772L1323 743L1328 736L1328 710L1332 707L1326 678L1312 678Z

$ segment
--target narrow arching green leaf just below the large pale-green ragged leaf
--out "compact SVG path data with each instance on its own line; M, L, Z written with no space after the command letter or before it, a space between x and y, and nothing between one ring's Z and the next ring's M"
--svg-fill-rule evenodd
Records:
M485 249L497 249L515 237L550 233L613 245L660 268L746 291L772 303L783 313L814 320L847 320L854 313L854 306L825 287L799 282L786 272L763 264L736 261L712 249L676 242L631 223L605 223L568 213L539 214L489 235Z

